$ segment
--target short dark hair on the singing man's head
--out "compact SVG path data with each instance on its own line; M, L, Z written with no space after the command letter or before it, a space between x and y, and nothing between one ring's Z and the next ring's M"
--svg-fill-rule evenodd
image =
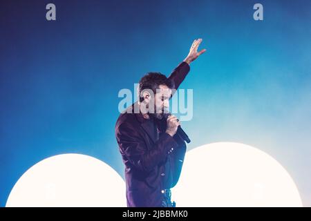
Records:
M152 90L154 95L156 95L156 90L159 88L161 84L166 85L168 88L173 89L174 84L171 79L167 78L167 76L158 72L149 72L144 75L140 79L140 90L138 96L140 97L140 93L142 90L149 89ZM144 100L144 97L140 97L140 102Z

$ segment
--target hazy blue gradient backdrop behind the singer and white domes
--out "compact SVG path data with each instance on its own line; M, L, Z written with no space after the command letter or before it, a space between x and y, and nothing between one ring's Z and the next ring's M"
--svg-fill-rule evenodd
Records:
M46 20L55 3L57 20ZM254 21L254 3L264 20ZM91 155L123 176L122 88L169 75L202 38L188 148L241 142L272 155L311 206L310 1L1 1L0 206L30 166ZM200 132L198 132L200 131Z

